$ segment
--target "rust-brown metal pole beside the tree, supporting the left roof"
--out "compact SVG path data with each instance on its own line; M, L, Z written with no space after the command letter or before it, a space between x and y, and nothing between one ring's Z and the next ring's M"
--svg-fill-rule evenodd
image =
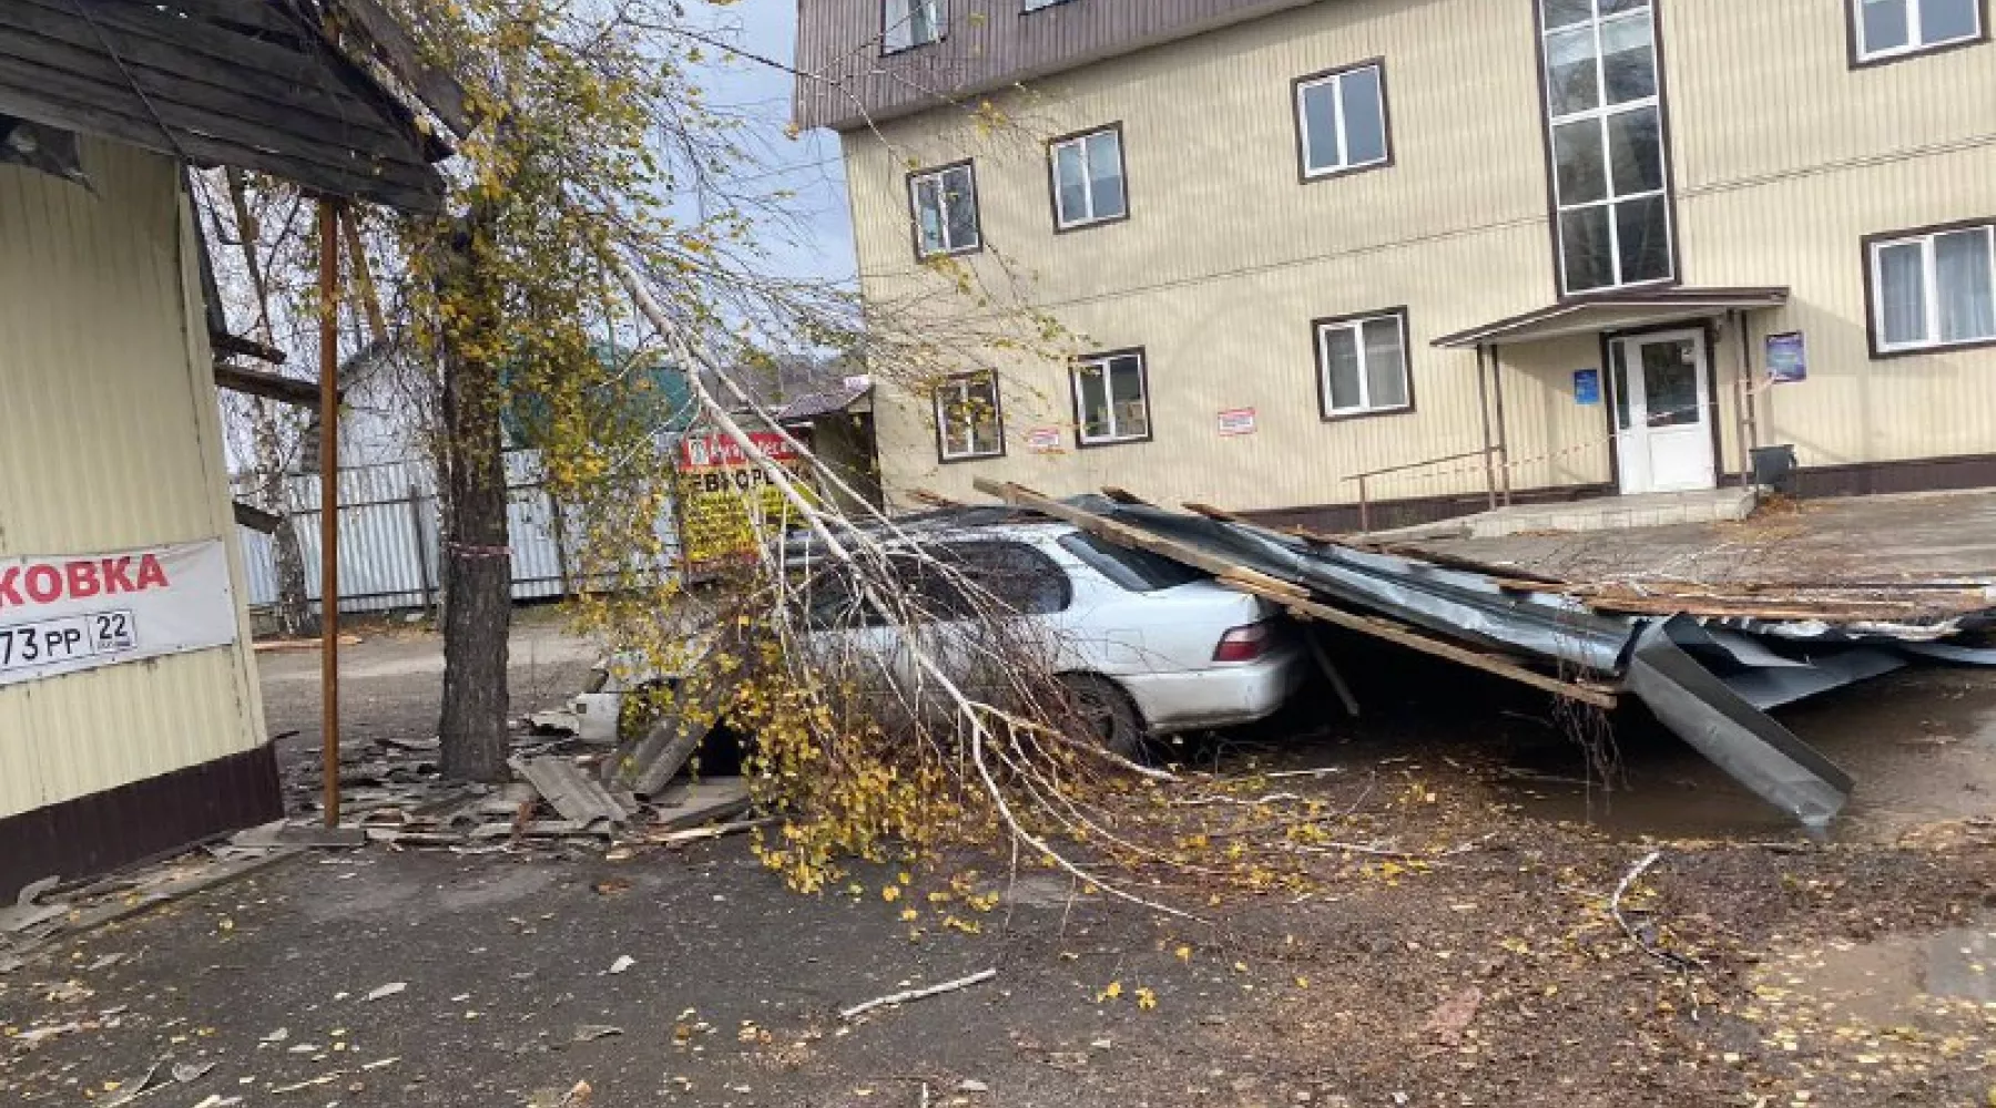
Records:
M339 203L319 199L319 759L339 827Z

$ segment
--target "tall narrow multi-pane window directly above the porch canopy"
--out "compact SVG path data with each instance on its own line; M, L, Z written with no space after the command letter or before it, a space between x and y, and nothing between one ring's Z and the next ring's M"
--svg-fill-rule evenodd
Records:
M1541 0L1533 0L1533 4L1541 4ZM1555 116L1553 114L1553 88L1551 88L1551 80L1553 78L1551 78L1551 58L1549 58L1551 40L1553 40L1553 36L1567 34L1567 32L1571 32L1573 28L1577 28L1581 24L1569 24L1569 26L1563 26L1563 28L1543 28L1541 34L1539 34L1539 60L1541 60L1539 64L1545 66L1545 88L1541 90L1541 100L1545 102L1543 110L1545 110L1545 120L1547 120L1547 130L1545 130L1547 149L1545 149L1545 153L1547 153L1547 165L1551 167L1551 181L1547 181L1547 185L1553 189L1553 245L1557 247L1555 249L1555 253L1557 253L1555 261L1559 263L1559 291L1561 291L1561 295L1569 295L1569 297L1587 297L1587 295L1597 295L1597 293L1613 293L1617 289L1639 289L1639 287L1647 287L1647 285L1667 285L1671 281L1677 281L1677 209L1671 203L1671 136L1669 136L1669 132L1663 126L1663 120L1665 120L1665 114L1663 114L1663 50L1661 50L1661 44L1657 40L1657 2L1651 0L1649 4L1645 4L1639 10L1615 12L1613 16L1607 16L1607 18L1601 18L1601 0L1593 0L1593 4L1595 4L1595 14L1587 22L1587 26L1591 26L1593 32L1595 32L1595 90L1601 94L1601 104L1599 106L1583 110L1583 112L1569 112L1565 116ZM1543 12L1543 8L1541 8L1541 12ZM1619 24L1619 22L1629 22L1629 20L1639 20L1639 18L1641 20L1649 20L1649 56L1651 56L1651 64L1657 68L1657 92L1653 96L1645 96L1641 100L1629 100L1629 102L1623 102L1623 104L1609 104L1607 50L1603 50L1601 28L1607 26L1607 24ZM1663 167L1663 185L1657 187L1657 189L1649 189L1649 191L1639 191L1639 193L1629 193L1629 195L1615 195L1613 155L1611 155L1611 151L1607 147L1607 120L1613 118L1613 116L1625 116L1625 114L1643 112L1643 110L1657 112L1657 145L1661 147L1659 153L1657 153L1657 157L1659 157L1659 165ZM1581 201L1581 203L1567 203L1559 195L1559 145L1557 145L1557 141L1555 141L1553 136L1559 134L1561 126L1565 126L1565 124L1579 124L1579 122L1593 122L1597 128L1603 130L1603 139L1601 139L1603 179L1607 183L1609 195L1605 199L1589 199L1589 201ZM1667 247L1667 253L1671 257L1671 271L1667 275L1663 275L1663 277L1645 277L1641 281L1623 281L1621 279L1621 275L1623 275L1621 227L1615 221L1615 207L1619 207L1623 203L1635 203L1635 201L1657 199L1657 197L1663 197L1663 201L1665 201L1663 203L1663 233L1667 235L1665 247ZM1575 289L1573 283L1571 283L1571 279L1569 279L1569 275L1567 275L1565 215L1569 211L1587 211L1587 209L1593 209L1593 207L1607 207L1609 209L1609 269L1611 269L1611 273L1615 277L1615 283L1611 283L1611 285L1589 285L1585 289Z

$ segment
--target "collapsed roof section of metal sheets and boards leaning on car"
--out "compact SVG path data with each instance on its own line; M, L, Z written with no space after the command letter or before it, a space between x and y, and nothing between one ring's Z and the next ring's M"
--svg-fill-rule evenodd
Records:
M1212 572L1222 584L1299 618L1597 707L1633 695L1705 757L1804 825L1828 823L1852 781L1766 709L1932 656L1936 640L1996 626L1990 590L1930 592L1914 602L1844 594L1754 602L1669 592L1625 600L1467 562L1269 530L1210 508L1186 514L1100 496L1056 502L986 480L978 490ZM1952 658L1996 662L1990 654L1996 652L1958 650Z

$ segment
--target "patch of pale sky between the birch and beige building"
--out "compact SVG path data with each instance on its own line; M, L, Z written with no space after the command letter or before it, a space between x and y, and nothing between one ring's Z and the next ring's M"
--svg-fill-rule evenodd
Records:
M743 50L788 64L796 56L796 0L739 0L707 8L715 28L737 34ZM715 64L709 96L717 108L750 120L750 147L764 153L764 171L745 177L743 189L766 195L790 189L784 209L794 227L768 227L762 247L786 277L850 281L854 271L852 221L846 213L844 165L838 138L806 132L784 136L790 122L792 78L756 62Z

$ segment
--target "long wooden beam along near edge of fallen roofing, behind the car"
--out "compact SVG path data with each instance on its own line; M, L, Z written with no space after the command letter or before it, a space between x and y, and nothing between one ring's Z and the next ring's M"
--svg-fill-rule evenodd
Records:
M1164 538L1160 534L1152 534L1144 528L1110 520L1106 516L1098 516L1094 512L1076 508L1072 504L1050 500L1030 488L978 478L976 490L984 492L986 496L996 496L1006 504L1016 504L1020 508L1030 508L1044 516L1070 522L1110 542L1120 542L1124 546L1134 546L1138 550L1150 550L1152 554L1162 554L1174 562L1206 570L1216 578L1220 578L1220 584L1269 600L1285 608L1293 616L1305 620L1319 620L1337 628L1367 634L1391 642L1395 646L1405 646L1407 650L1419 650L1421 654L1431 654L1447 662L1469 666L1473 670L1483 670L1485 674L1509 678L1523 686L1545 690L1549 693L1563 695L1567 699L1577 699L1581 703L1591 703L1595 707L1615 707L1613 692L1599 690L1593 686L1581 686L1575 682L1563 682L1559 678L1549 678L1545 674L1527 670L1505 658L1495 658L1491 654L1483 654L1451 642L1429 638L1427 634L1415 632L1413 628L1407 628L1405 624L1397 624L1393 620L1383 620L1377 616L1359 616L1355 612L1331 608L1329 604L1321 604L1315 598L1311 598L1307 590L1289 584L1285 580L1271 578L1267 574L1249 570L1246 566L1236 566L1234 562L1218 554L1210 554L1196 546L1186 546L1182 542Z

